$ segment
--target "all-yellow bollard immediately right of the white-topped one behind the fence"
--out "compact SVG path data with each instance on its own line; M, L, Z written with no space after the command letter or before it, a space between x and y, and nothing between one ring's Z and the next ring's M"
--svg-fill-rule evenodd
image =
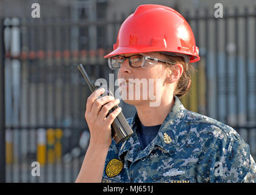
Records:
M54 144L55 144L55 132L54 129L47 130L47 159L48 163L53 164L55 160L55 152L54 152Z

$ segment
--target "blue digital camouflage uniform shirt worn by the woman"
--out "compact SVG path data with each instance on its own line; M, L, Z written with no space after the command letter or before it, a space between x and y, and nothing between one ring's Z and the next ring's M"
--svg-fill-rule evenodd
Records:
M102 182L256 182L254 159L240 135L232 127L185 109L177 96L157 136L143 151L137 120L137 113L127 119L132 137L118 145L112 141ZM171 143L164 140L165 133ZM108 177L106 166L114 158L123 169Z

